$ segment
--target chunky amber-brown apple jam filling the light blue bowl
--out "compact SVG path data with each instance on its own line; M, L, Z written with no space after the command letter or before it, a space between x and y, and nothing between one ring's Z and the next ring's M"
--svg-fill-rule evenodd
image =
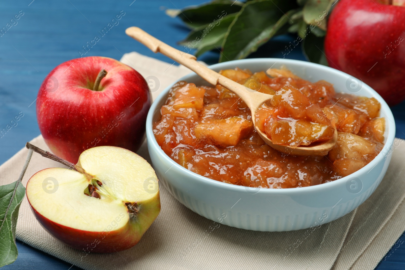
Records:
M175 162L210 179L264 188L318 185L351 174L382 149L384 118L375 98L337 94L326 81L312 83L285 69L220 73L274 95L255 113L256 124L285 145L309 145L333 137L326 156L293 156L267 145L258 135L246 104L228 89L179 81L170 90L155 138Z

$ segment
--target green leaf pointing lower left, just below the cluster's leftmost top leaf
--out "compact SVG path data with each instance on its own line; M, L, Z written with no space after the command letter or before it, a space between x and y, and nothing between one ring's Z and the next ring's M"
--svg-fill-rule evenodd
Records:
M206 51L213 49L220 49L222 40L228 27L234 20L236 14L230 14L223 17L222 20L218 20L218 24L207 24L196 30L193 30L188 36L180 41L181 45L184 45L186 49L197 49L195 55L198 57Z

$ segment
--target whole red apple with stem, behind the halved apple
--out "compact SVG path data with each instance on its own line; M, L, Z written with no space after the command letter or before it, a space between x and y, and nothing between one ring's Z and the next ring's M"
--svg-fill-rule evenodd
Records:
M100 70L102 91L92 91ZM107 57L83 57L54 68L36 101L39 129L51 151L76 163L84 150L103 145L136 152L145 138L151 95L133 68Z

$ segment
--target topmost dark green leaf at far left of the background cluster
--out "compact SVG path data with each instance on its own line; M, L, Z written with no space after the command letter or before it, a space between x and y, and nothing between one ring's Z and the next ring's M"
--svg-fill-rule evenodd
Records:
M200 6L188 6L185 9L166 9L166 14L171 17L178 16L191 29L200 28L214 20L237 13L241 10L243 3L239 1L221 0L204 3Z

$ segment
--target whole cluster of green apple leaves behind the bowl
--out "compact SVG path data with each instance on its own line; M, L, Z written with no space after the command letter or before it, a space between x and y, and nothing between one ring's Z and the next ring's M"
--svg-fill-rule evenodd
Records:
M192 29L179 43L185 49L203 53L222 49L219 62L242 59L273 36L296 33L302 40L309 36L303 51L307 59L326 64L323 49L326 17L337 0L213 0L185 9L168 9ZM321 49L321 50L322 50Z

